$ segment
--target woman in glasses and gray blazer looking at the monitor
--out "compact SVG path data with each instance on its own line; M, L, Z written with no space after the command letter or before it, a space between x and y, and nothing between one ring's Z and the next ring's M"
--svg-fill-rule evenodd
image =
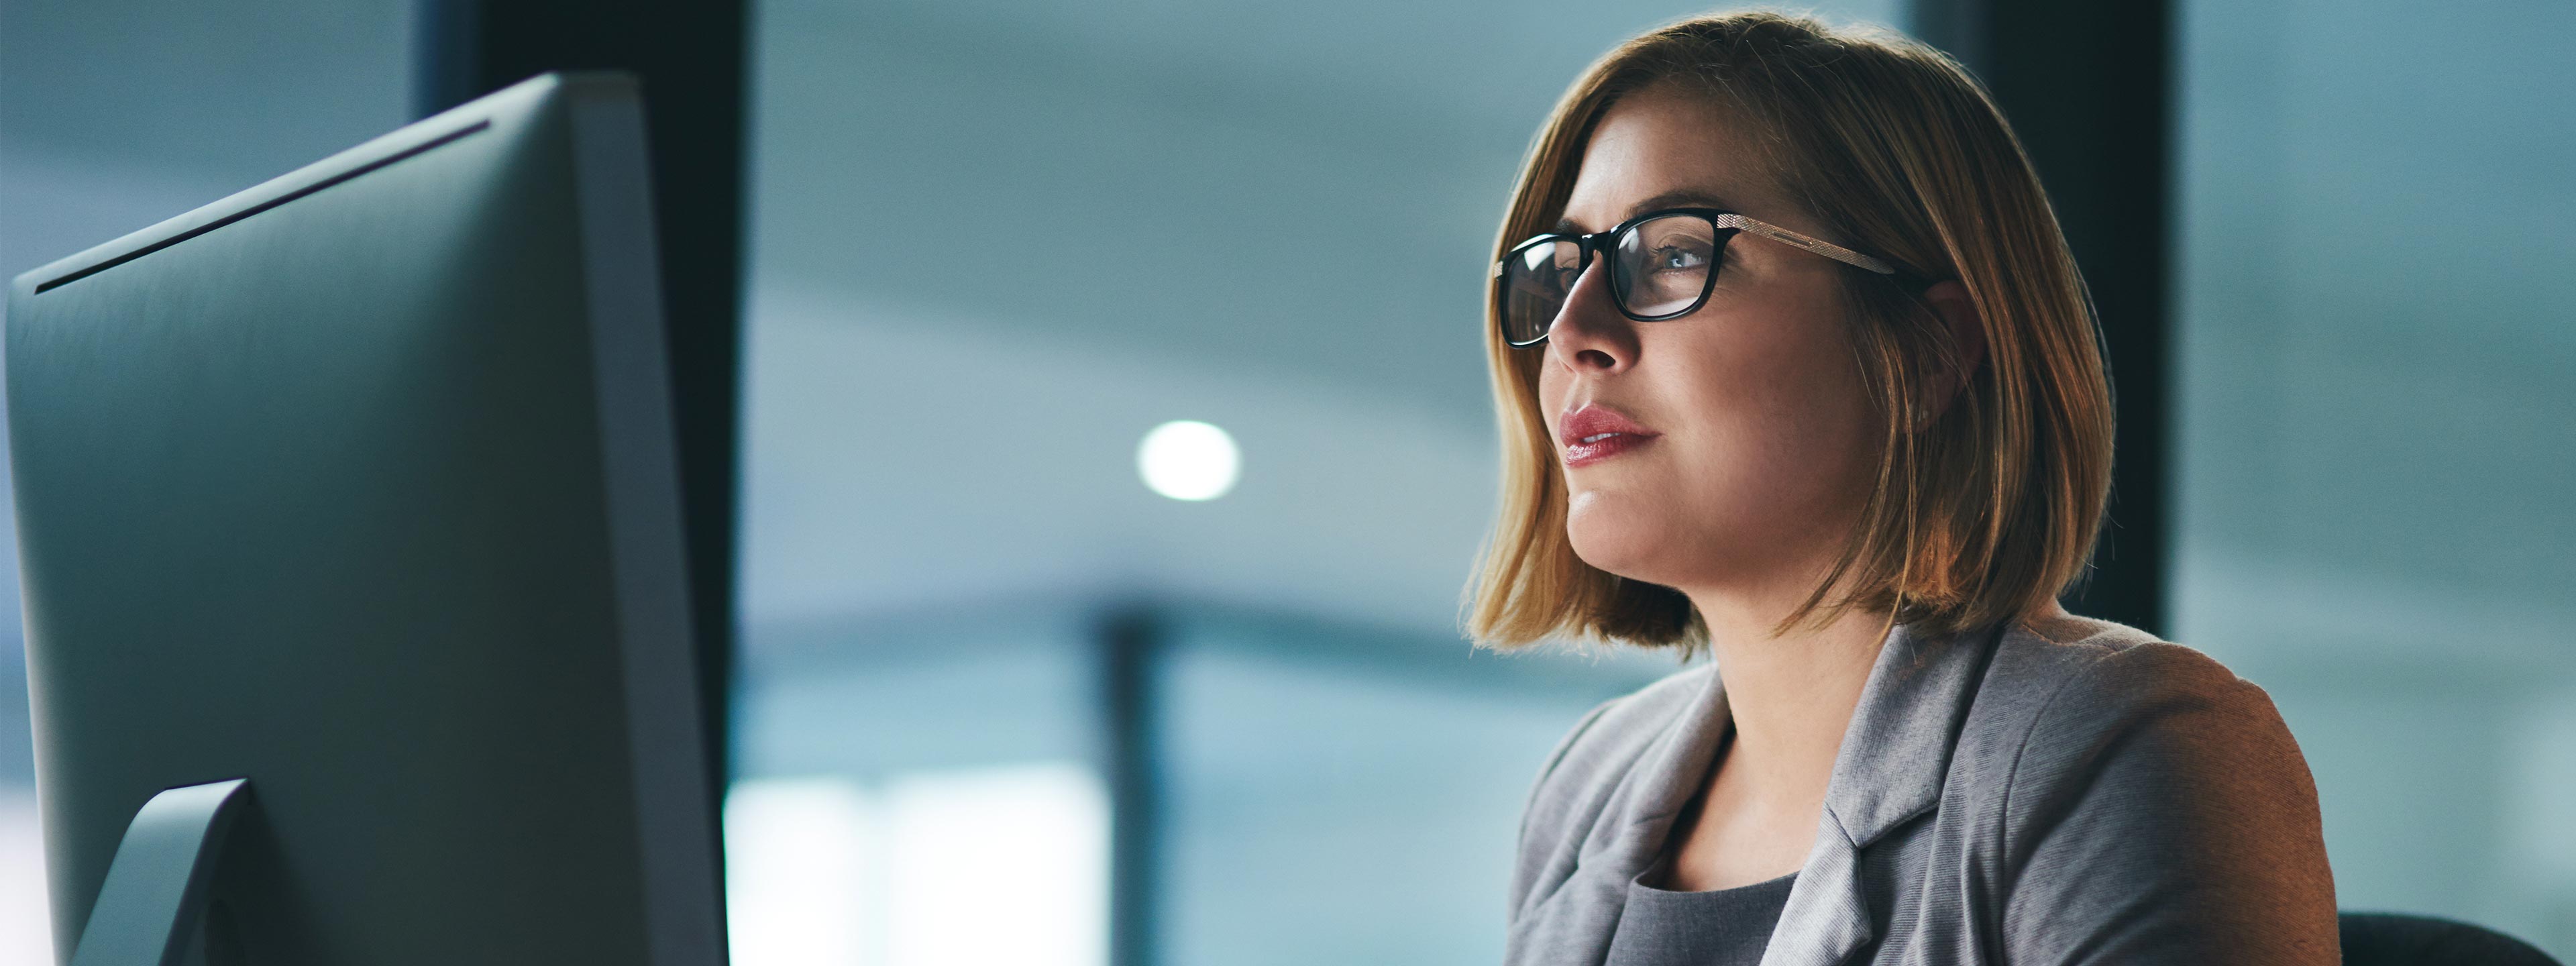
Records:
M1512 963L2334 963L2251 683L2069 616L2110 479L2084 286L1986 95L1767 13L1646 33L1497 252L1481 641L1710 652L1530 796Z

